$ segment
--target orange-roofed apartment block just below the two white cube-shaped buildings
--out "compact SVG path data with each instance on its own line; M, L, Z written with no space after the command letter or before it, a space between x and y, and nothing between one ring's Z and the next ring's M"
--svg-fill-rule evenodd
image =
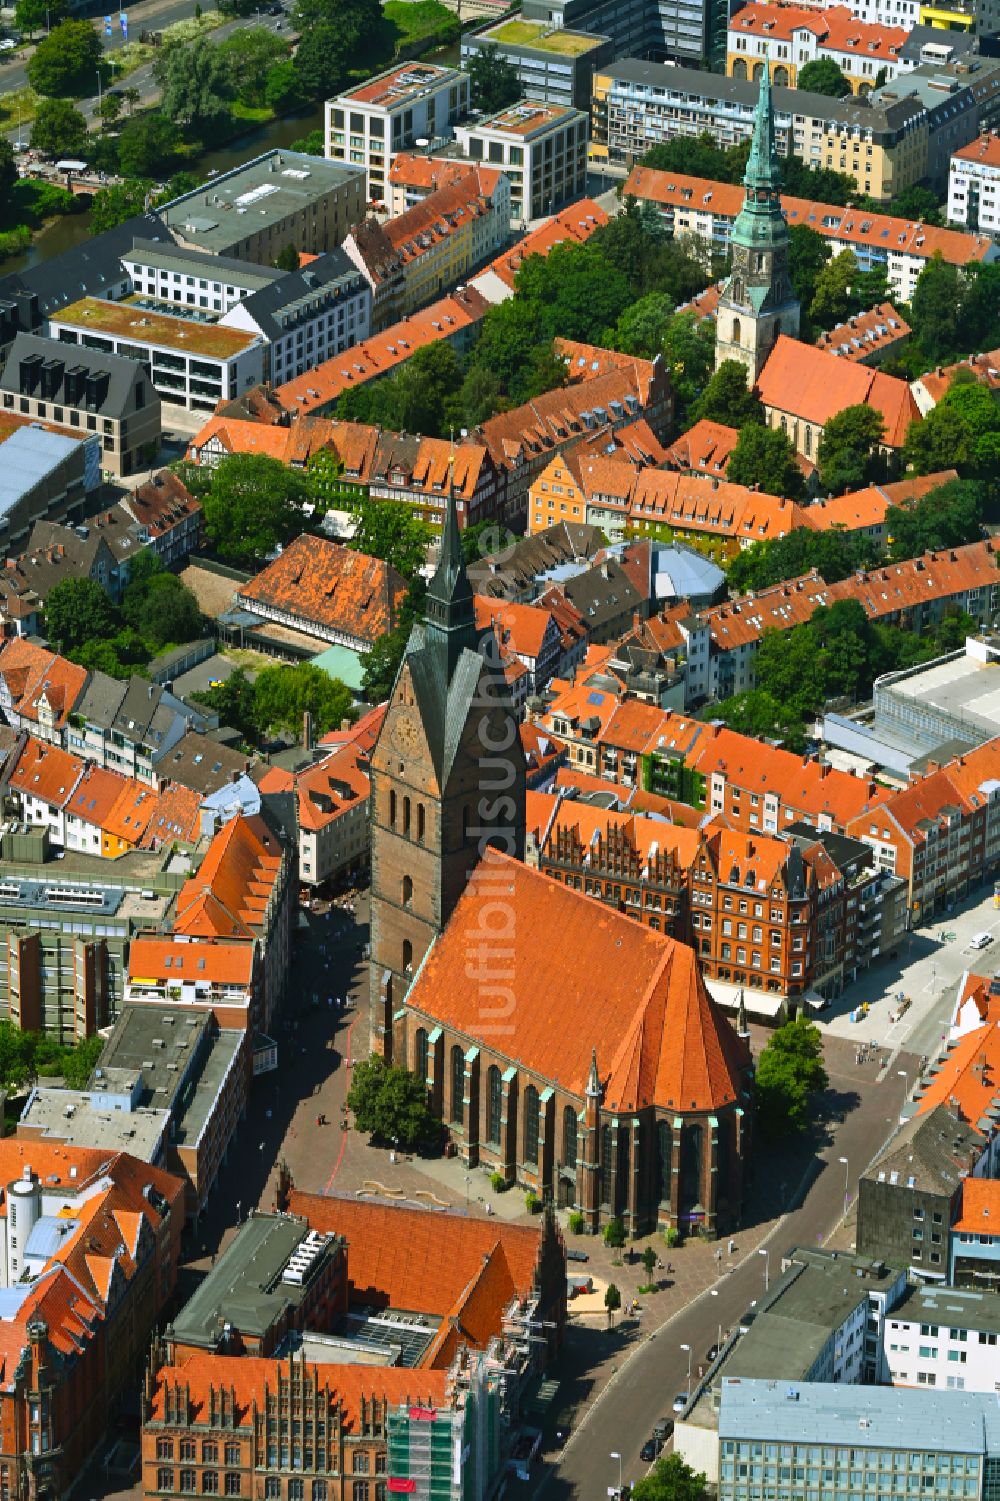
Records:
M473 167L395 219L366 221L344 251L372 288L375 326L386 327L467 279L506 243L511 183Z

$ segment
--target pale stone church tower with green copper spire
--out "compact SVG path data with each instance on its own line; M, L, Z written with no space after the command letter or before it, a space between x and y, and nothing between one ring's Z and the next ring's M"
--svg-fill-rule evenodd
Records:
M766 69L743 186L743 207L730 240L733 273L716 317L715 368L724 360L739 360L746 366L748 384L754 386L778 336L799 336L799 300L788 273L788 221L781 209L781 165Z

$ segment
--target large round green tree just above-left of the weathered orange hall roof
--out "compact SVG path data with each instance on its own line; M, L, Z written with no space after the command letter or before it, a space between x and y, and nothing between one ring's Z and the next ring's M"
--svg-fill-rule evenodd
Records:
M299 470L261 453L233 453L203 498L204 527L221 557L260 561L300 530L308 498L309 482Z

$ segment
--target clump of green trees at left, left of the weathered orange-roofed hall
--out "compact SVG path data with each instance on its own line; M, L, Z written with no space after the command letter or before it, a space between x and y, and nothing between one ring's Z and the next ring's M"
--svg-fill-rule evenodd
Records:
M53 645L111 677L131 677L159 651L195 641L203 627L191 590L149 548L132 561L120 605L92 578L65 578L45 599Z

